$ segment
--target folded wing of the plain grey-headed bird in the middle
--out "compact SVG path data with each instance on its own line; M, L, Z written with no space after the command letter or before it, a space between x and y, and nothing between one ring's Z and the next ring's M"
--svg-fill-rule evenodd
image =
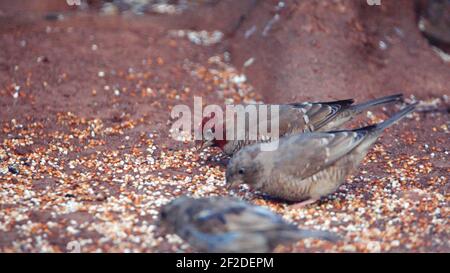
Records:
M298 178L307 178L350 153L367 131L305 133L280 140L274 170Z

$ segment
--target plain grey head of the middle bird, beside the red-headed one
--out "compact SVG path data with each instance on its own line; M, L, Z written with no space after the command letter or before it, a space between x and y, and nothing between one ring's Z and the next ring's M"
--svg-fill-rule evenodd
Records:
M225 173L228 188L236 189L241 184L247 184L255 189L260 188L261 164L255 160L257 154L255 146L239 150L228 163Z

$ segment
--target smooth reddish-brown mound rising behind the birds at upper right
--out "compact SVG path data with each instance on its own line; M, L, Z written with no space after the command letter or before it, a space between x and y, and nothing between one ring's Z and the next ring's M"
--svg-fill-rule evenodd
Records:
M262 1L236 34L245 42L231 46L238 67L254 58L246 73L266 100L450 93L449 64L417 28L414 1L385 1L379 7L365 1L285 2L270 35L261 33L275 5ZM245 39L252 27L257 31Z

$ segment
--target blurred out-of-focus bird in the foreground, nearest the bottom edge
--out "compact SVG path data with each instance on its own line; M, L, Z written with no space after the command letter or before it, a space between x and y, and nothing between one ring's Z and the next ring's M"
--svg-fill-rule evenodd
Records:
M299 229L262 206L229 196L181 196L161 208L160 226L201 252L271 252L304 238L337 242L340 236Z

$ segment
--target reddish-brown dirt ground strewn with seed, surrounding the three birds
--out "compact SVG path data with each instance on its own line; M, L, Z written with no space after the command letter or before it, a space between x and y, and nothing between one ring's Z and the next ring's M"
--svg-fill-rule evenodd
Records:
M140 16L100 1L0 2L0 251L191 252L156 226L160 206L183 194L238 195L344 238L279 252L450 251L450 64L418 30L412 1L199 2ZM200 30L224 37L199 44L187 33ZM170 137L170 110L193 96L223 105L398 92L420 111L388 129L337 193L301 210L228 192L227 159Z

